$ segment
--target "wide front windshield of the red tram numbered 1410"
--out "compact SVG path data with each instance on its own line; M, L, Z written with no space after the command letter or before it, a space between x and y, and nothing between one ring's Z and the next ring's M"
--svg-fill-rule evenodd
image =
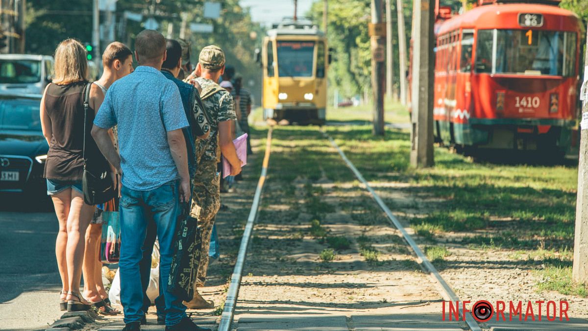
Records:
M476 72L574 76L576 34L540 30L479 30Z

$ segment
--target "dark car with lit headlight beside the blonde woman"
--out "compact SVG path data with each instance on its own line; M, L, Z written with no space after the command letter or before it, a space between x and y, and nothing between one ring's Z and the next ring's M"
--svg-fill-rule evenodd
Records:
M46 194L41 95L0 95L0 193Z

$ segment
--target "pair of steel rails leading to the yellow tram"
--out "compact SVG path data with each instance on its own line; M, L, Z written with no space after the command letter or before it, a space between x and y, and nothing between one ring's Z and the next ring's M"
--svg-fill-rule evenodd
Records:
M245 231L243 233L242 241L240 243L240 249L239 249L239 254L238 254L238 257L236 260L235 268L233 270L232 277L230 280L228 294L227 294L227 297L225 300L225 306L223 308L222 317L220 319L220 324L218 326L219 331L232 330L233 317L235 317L235 309L237 306L237 301L238 301L238 297L239 297L239 289L240 289L241 280L243 277L243 267L245 265L246 256L247 256L248 249L250 246L250 239L251 239L252 233L253 233L253 226L254 226L255 221L258 217L258 211L259 211L259 206L260 206L260 200L262 197L263 187L264 187L264 184L266 183L266 178L268 175L269 159L270 159L271 145L272 145L272 133L273 133L273 130L272 130L272 128L270 128L270 130L268 131L268 138L266 141L266 150L265 150L265 156L263 158L262 171L261 171L261 174L259 177L258 185L255 190L255 196L253 197L253 203L252 203L252 207L250 209L248 221L245 226ZM429 261L429 259L427 259L426 255L423 253L423 251L419 248L419 246L417 246L415 240L413 240L413 238L410 236L410 234L407 233L407 231L402 226L400 221L394 216L394 214L392 213L390 208L386 206L386 204L384 203L382 198L380 198L378 196L376 191L373 190L372 187L370 187L368 181L366 181L365 178L363 178L362 174L353 165L353 163L351 163L351 161L346 157L345 153L343 153L343 151L339 148L339 146L335 143L335 141L331 137L329 137L329 135L326 134L325 131L322 131L322 134L326 138L326 140L329 141L330 145L332 145L332 147L335 148L337 153L340 155L340 157L346 163L346 165L350 168L350 170L353 172L353 174L355 174L355 176L358 178L358 180L362 183L363 188L365 188L365 190L367 190L370 193L373 200L376 201L377 205L386 214L386 217L387 217L389 223L393 227L395 227L395 229L397 229L397 231L399 231L400 236L402 237L402 239L406 243L406 246L409 247L410 250L413 252L414 260L420 265L420 267L427 274L429 274L433 283L436 284L437 291L439 292L440 296L443 297L443 300L447 300L447 301L451 300L454 302L459 300L456 293L451 289L449 284L447 284L445 282L445 280L443 280L442 276L440 276L439 272L437 272L437 269L435 268L435 266L433 266L433 264ZM461 314L461 312L460 312L460 314ZM466 314L465 323L467 325L467 329L469 329L469 330L472 330L472 331L481 331L482 330L480 328L480 326L477 324L476 320L473 319L473 317L470 314ZM350 326L349 323L348 323L348 327L349 327L349 330L353 330L353 327Z

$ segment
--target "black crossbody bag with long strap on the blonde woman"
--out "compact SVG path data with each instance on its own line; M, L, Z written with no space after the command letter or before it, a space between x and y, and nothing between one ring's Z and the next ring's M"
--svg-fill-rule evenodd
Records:
M83 201L89 205L101 204L111 200L116 195L117 187L112 183L112 178L108 169L102 171L90 171L88 169L88 160L86 159L86 127L88 127L87 117L90 111L90 88L92 83L88 83L84 89L83 95L83 175L82 190Z

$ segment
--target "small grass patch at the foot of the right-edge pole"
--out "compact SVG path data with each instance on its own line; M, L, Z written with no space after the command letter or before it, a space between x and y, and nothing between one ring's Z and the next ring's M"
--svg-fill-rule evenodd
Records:
M588 286L572 282L572 267L547 266L543 270L536 270L542 277L537 283L537 289L543 291L557 291L565 295L588 297Z

